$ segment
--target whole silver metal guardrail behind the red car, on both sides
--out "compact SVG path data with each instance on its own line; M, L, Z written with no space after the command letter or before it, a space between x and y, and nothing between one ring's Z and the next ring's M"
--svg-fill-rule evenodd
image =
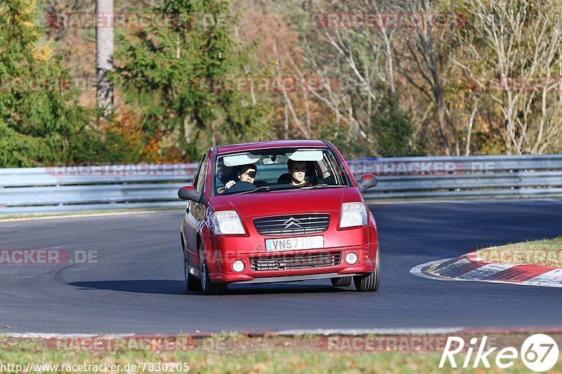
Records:
M562 155L410 157L348 161L379 185L367 201L562 197ZM174 208L197 164L0 169L0 216Z

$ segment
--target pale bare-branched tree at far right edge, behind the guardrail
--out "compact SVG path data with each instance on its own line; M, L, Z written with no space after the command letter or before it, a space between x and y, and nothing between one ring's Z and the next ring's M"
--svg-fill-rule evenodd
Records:
M497 105L508 154L544 152L562 126L562 4L559 0L466 0L475 40L465 40L479 64L476 91Z

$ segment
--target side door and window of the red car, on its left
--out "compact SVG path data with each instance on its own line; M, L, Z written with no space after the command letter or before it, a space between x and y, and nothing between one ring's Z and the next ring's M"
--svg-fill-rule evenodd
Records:
M195 178L193 179L193 187L197 192L204 193L205 180L207 180L207 167L209 164L209 157L207 154L201 159L200 165L197 168ZM186 209L185 216L185 231L188 236L188 251L190 255L190 264L197 264L197 232L201 220L204 218L204 213L207 211L204 203L197 201L189 201L188 208Z

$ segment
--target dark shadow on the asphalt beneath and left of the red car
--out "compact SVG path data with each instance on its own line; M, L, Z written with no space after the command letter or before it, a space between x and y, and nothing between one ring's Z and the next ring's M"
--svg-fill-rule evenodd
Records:
M155 293L160 295L204 296L201 291L185 290L183 281L167 279L140 279L135 281L79 281L70 282L70 286L79 290L113 290L131 293ZM237 284L228 289L228 295L258 295L284 293L337 293L352 292L351 288L334 288L324 284ZM355 292L355 291L353 291Z

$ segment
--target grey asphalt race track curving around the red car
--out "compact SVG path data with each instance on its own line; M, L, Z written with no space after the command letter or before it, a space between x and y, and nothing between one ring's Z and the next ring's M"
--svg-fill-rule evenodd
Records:
M562 201L370 206L379 226L377 293L329 280L183 288L182 210L0 222L0 249L98 251L98 262L0 265L0 333L207 333L315 329L562 326L562 289L438 281L423 262L562 234ZM2 328L10 326L10 328Z

